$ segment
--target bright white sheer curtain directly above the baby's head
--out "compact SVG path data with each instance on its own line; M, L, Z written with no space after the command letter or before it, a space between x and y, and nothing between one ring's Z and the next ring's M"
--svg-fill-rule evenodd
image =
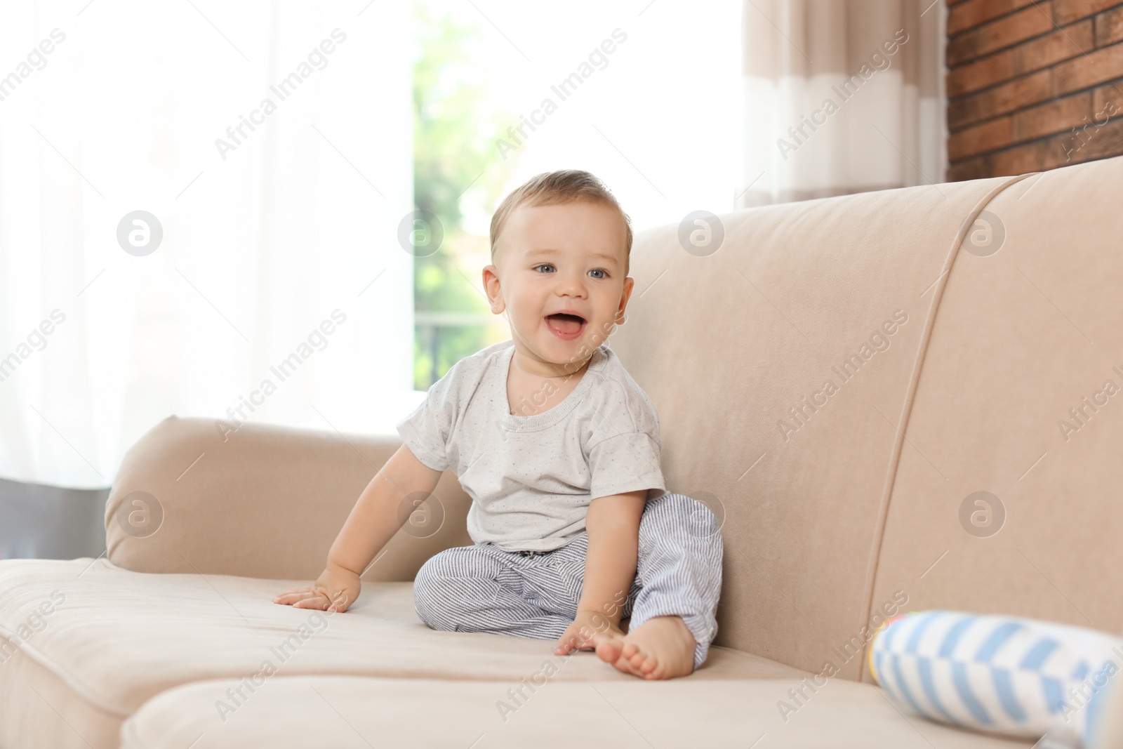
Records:
M518 145L504 189L540 172L588 170L637 230L734 208L742 2L442 0L481 26L483 44L472 54L493 71L491 103L510 112L494 136ZM584 82L560 97L574 74ZM557 109L544 116L547 99ZM523 118L537 125L515 144L506 125ZM468 214L481 235L495 205L487 208Z

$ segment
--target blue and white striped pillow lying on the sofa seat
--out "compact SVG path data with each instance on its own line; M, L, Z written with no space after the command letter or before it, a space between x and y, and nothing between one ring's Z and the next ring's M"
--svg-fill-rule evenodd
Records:
M898 703L935 721L1028 738L1069 729L1088 749L1121 746L1123 640L1104 632L914 612L882 625L869 669Z

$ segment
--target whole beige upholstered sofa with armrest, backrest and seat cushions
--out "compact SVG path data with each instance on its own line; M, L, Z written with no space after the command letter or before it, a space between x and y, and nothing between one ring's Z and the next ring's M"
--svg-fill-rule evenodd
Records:
M1123 157L725 213L710 253L638 234L609 345L668 487L723 522L690 677L428 629L410 581L471 542L451 473L350 611L273 604L398 437L170 417L116 477L108 558L0 563L0 746L1029 747L891 703L866 633L905 597L1123 628L1123 396L1095 394L1123 382L1121 193ZM146 496L147 530L118 521Z

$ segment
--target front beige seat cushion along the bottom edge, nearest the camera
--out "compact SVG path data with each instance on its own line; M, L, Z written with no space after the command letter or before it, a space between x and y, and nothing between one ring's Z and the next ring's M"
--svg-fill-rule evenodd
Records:
M803 705L782 716L777 702L801 682L564 682L562 673L533 688L527 679L521 698L512 698L518 679L275 676L253 692L231 679L200 682L141 706L121 729L121 749L1032 746L906 716L879 687L842 679L813 694L804 687ZM239 687L235 706L228 691Z

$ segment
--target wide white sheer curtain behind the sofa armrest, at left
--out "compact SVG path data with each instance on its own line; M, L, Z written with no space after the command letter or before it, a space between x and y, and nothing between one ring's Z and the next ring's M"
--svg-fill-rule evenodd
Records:
M0 476L108 486L173 413L393 429L409 24L368 0L4 4Z

